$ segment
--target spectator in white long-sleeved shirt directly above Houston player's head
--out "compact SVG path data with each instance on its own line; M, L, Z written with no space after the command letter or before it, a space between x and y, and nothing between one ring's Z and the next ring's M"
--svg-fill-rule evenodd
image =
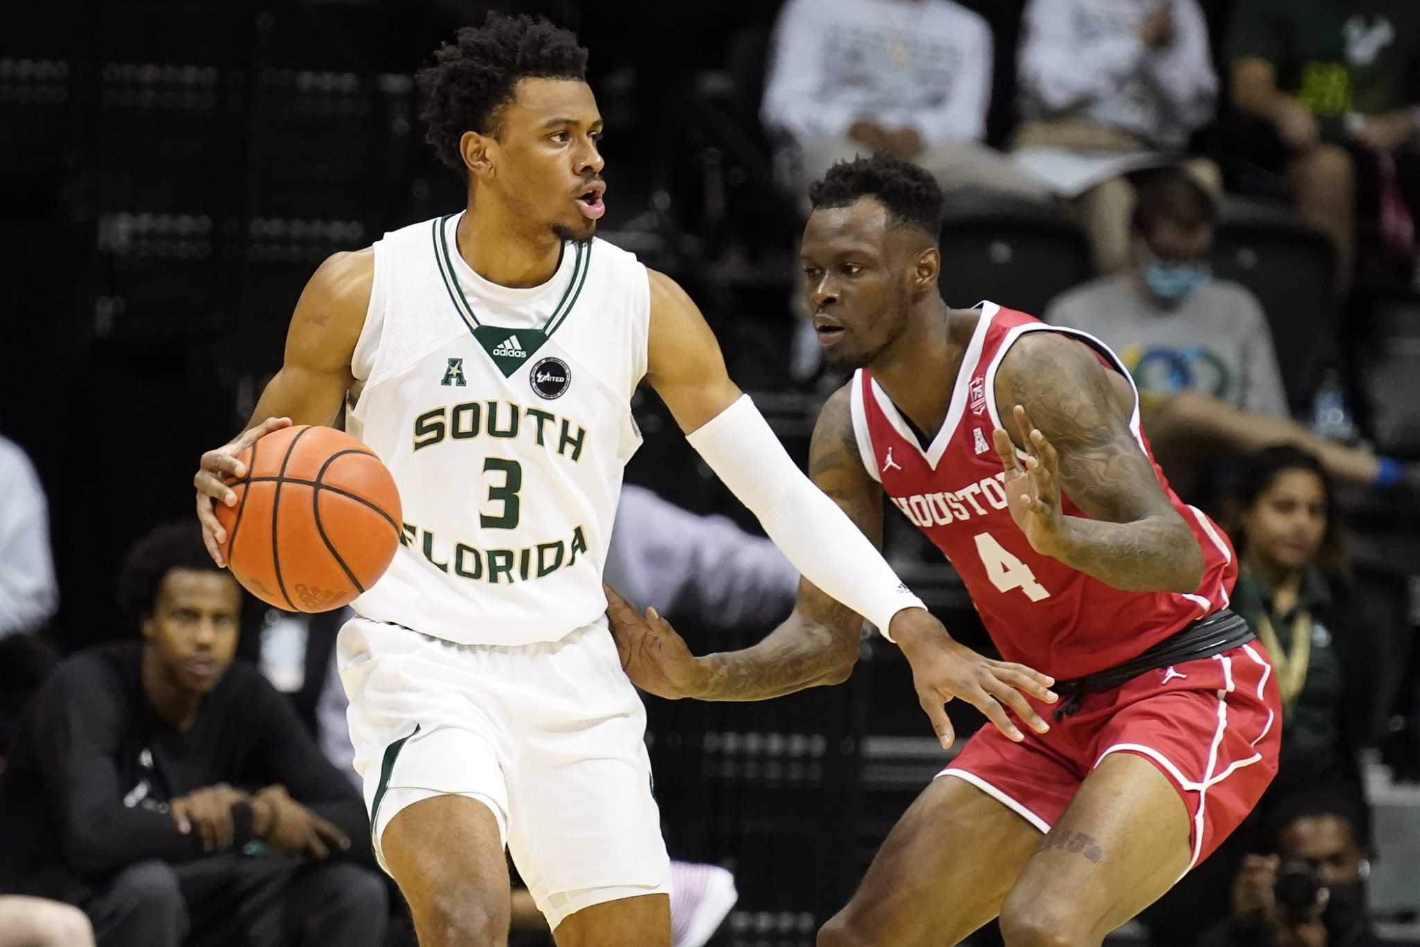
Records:
M765 126L792 139L794 190L855 155L917 162L943 190L1049 192L981 143L991 28L954 0L790 0L774 31Z

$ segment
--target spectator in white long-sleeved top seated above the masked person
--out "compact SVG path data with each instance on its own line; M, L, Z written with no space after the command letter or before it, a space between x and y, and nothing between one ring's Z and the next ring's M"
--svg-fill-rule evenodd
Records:
M1017 160L1075 200L1100 273L1129 263L1142 166L1181 162L1213 193L1221 173L1186 160L1213 119L1218 80L1197 0L1031 0L1020 58Z

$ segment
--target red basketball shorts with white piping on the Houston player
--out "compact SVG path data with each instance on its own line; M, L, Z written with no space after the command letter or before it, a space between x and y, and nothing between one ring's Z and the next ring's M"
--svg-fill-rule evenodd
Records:
M1061 720L1051 704L1031 704L1049 733L1022 726L1025 740L1011 743L985 726L939 775L966 779L1041 832L1100 760L1132 752L1183 797L1193 819L1191 869L1242 822L1277 774L1282 706L1260 642L1083 694L1079 710Z

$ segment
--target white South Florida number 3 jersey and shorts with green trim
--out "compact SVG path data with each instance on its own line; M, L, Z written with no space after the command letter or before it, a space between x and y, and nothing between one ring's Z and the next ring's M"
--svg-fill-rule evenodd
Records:
M542 285L496 285L459 217L375 243L346 425L395 476L405 535L341 630L341 677L376 855L402 808L477 799L555 927L667 883L601 588L650 288L601 240L565 244Z

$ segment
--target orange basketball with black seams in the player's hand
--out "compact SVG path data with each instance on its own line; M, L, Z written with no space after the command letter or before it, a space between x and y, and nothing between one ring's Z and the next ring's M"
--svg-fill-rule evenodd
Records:
M395 478L334 427L283 427L240 454L237 504L217 503L227 568L263 602L291 612L348 605L399 548Z

